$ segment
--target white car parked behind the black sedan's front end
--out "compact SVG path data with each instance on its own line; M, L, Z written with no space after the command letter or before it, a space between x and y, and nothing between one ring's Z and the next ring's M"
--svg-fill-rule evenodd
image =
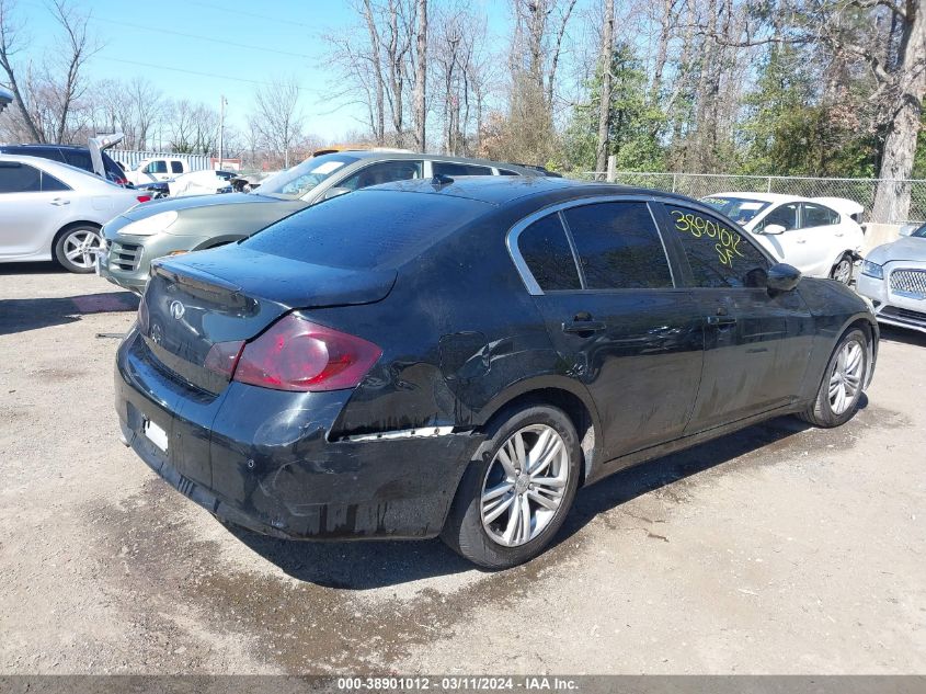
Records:
M719 193L704 202L750 231L777 260L811 277L848 284L861 260L861 205L838 197Z

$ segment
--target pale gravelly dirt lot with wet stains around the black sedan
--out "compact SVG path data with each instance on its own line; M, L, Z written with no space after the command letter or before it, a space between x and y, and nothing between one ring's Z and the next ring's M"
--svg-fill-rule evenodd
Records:
M926 672L926 337L866 408L583 490L502 573L439 542L231 534L117 440L135 300L0 266L0 672Z

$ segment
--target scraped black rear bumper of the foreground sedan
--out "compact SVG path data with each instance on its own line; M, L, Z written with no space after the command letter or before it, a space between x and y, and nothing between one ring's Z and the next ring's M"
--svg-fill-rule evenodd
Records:
M351 391L232 383L204 394L162 372L135 332L118 350L115 382L123 437L151 469L219 517L277 537L434 536L481 442L468 433L329 441ZM146 420L167 432L167 452L144 433Z

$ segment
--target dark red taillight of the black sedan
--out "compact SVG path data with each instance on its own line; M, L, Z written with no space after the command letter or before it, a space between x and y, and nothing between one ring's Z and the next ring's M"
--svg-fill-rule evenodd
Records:
M361 338L289 315L253 342L213 345L205 366L275 390L354 388L382 350Z

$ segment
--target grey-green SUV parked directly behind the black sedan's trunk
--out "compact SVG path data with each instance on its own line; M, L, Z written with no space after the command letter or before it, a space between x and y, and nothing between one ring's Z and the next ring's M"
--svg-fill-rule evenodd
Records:
M311 157L264 179L252 193L158 201L150 209L113 219L103 230L108 251L101 257L100 274L140 293L156 258L238 241L294 212L357 189L436 174L538 175L514 164L436 155L339 151Z

